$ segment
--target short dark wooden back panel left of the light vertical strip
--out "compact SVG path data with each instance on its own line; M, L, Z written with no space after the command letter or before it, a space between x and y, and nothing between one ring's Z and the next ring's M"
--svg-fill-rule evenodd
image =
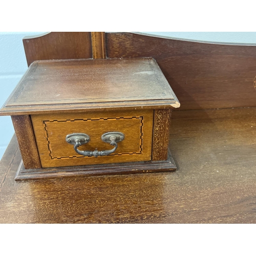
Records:
M42 59L92 58L91 32L51 32L23 39L28 66Z

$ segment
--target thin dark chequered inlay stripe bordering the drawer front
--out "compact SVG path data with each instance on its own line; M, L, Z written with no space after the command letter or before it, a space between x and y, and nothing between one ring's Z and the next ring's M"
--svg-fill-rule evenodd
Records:
M51 142L49 138L49 132L47 123L54 123L54 122L75 122L75 121L103 121L103 120L122 120L122 119L140 119L140 143L139 143L139 152L125 152L125 153L113 153L109 156L123 156L123 155L139 155L143 152L143 124L144 124L144 117L143 116L127 116L127 117L101 117L101 118L79 118L79 119L66 119L66 120L43 120L44 124L44 131L45 131L45 138L47 142L47 148L49 157L51 160L54 159L69 159L69 158L87 158L88 156L62 156L62 157L54 157L52 153Z

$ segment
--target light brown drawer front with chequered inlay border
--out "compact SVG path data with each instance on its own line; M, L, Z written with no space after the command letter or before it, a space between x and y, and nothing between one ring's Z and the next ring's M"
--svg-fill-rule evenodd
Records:
M154 110L31 115L42 167L149 161L153 118ZM69 134L83 133L90 141L78 150L112 150L113 145L101 140L107 132L124 134L116 151L107 156L82 156L66 141Z

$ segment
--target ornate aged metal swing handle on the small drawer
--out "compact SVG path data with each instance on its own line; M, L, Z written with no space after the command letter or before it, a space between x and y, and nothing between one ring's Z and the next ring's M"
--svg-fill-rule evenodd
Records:
M101 140L110 143L112 146L115 146L112 150L102 150L102 151L97 151L97 148L95 151L81 151L78 150L77 147L86 144L90 141L90 136L85 134L85 133L72 133L67 135L66 141L72 145L74 145L74 150L76 153L82 156L108 156L112 153L114 153L117 149L117 143L122 141L124 139L124 134L120 132L108 132L104 133L101 136Z

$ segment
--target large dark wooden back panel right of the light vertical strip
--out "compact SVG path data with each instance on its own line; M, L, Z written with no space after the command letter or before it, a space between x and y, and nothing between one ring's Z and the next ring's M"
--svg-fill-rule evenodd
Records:
M109 58L153 57L179 110L256 106L256 47L215 45L132 33L106 33Z

